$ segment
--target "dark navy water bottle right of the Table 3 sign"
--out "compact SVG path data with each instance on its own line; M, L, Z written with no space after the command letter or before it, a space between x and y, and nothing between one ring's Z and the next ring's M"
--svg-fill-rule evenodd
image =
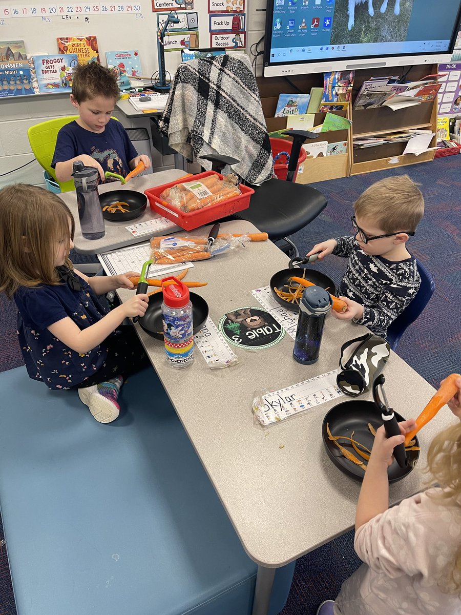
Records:
M332 305L331 296L320 286L309 286L302 293L293 349L293 359L298 363L310 365L317 361L325 315Z

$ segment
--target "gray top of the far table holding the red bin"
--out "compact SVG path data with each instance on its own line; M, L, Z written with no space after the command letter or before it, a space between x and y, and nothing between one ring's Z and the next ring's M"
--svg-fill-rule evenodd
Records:
M132 180L128 181L128 183L124 185L120 184L119 181L113 181L109 184L99 186L98 191L100 194L111 190L137 190L139 192L144 192L144 190L148 188L167 184L170 181L176 180L178 177L183 177L183 175L185 175L185 172L182 169L170 169L168 171L160 171L159 173L141 175L141 177L133 177ZM82 231L80 228L76 192L63 192L63 194L60 194L59 196L66 203L66 205L68 205L72 215L74 216L74 245L77 252L81 252L82 254L100 254L102 252L109 252L109 250L118 250L119 248L124 248L127 245L139 244L143 241L147 241L155 234L164 235L179 228L178 226L172 226L168 229L152 232L152 234L133 237L130 231L127 231L127 226L161 217L158 213L152 212L148 204L143 215L139 218L125 222L111 222L105 220L106 234L104 237L101 237L101 239L85 239L85 237L82 236Z

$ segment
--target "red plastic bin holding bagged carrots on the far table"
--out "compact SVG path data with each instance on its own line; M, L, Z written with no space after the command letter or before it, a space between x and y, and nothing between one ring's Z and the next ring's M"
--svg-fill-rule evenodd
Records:
M165 201L160 199L160 194L162 194L166 188L171 188L184 181L200 180L202 177L210 177L210 175L218 175L220 180L224 179L223 175L216 173L216 171L205 171L205 173L198 173L192 177L179 178L176 181L171 181L169 184L149 188L144 190L144 194L148 197L151 209L154 212L159 213L161 216L165 216L165 218L175 222L178 226L181 226L181 228L186 229L186 231L192 231L203 224L219 220L219 218L225 218L235 212L242 212L242 210L250 207L250 197L254 194L254 190L242 184L239 185L242 194L238 194L231 199L221 200L215 205L208 205L208 207L197 209L197 211L191 213L181 212L180 209L173 207L173 205L165 204Z

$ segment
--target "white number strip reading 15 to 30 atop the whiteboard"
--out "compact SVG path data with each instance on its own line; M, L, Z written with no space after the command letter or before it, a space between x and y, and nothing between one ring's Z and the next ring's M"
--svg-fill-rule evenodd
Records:
M140 13L139 2L46 2L0 5L1 18L61 17L61 15L125 15Z

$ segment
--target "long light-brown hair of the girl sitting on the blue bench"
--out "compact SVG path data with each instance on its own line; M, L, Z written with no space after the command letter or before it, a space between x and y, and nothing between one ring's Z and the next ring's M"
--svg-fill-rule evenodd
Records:
M69 232L70 223L70 232ZM52 192L14 184L0 191L0 292L11 298L21 286L60 283L55 271L56 242L70 244L74 218ZM65 263L73 265L69 259Z

